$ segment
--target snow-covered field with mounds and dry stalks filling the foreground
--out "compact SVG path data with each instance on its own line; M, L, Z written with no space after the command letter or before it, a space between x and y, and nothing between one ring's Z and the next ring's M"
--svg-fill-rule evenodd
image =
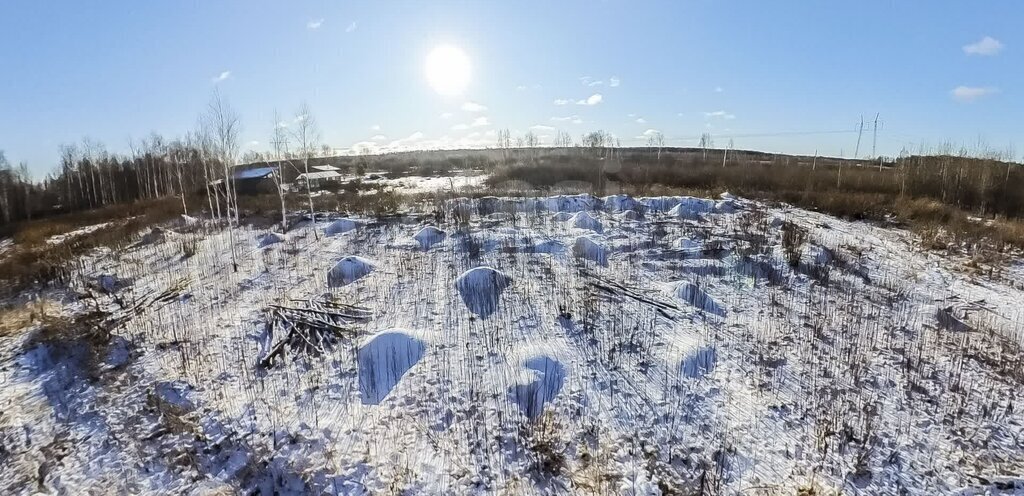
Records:
M731 197L336 220L84 258L111 336L0 336L3 492L1024 494L1020 263Z

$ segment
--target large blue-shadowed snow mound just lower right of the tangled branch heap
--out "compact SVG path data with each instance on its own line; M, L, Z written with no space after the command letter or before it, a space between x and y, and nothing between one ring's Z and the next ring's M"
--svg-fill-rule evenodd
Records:
M367 338L356 353L362 404L377 405L387 398L426 348L422 339L402 329L388 329Z

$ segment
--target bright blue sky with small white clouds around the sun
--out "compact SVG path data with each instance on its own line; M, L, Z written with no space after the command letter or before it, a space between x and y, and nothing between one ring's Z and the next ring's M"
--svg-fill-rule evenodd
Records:
M642 144L655 129L849 157L860 116L880 113L879 153L983 140L1020 156L1021 19L1012 0L14 0L0 4L0 150L42 175L84 136L124 152L182 135L217 89L256 150L274 110L305 101L337 149L493 146L499 128ZM458 96L424 75L445 43L472 65Z

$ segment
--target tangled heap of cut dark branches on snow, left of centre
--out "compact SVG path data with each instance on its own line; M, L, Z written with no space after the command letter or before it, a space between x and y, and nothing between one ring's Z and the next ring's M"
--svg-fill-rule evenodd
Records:
M290 300L290 305L267 307L263 352L258 365L271 368L287 349L292 356L317 357L342 337L354 336L355 325L370 320L370 308L342 303L327 295L321 299Z

